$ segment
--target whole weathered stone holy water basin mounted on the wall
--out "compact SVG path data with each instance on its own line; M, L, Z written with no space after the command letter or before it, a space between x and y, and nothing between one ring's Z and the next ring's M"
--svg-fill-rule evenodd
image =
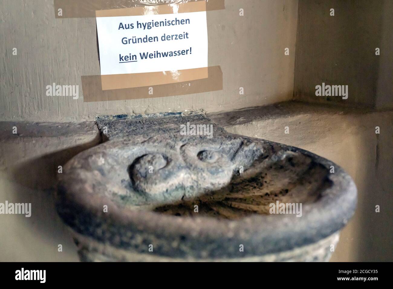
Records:
M187 123L212 137L183 135ZM57 191L83 261L327 261L354 213L356 187L336 164L204 115L97 125L107 141L72 158ZM301 210L272 214L280 203Z

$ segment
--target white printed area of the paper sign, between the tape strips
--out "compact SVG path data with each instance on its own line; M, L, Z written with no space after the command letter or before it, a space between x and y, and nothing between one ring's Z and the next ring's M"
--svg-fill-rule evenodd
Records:
M208 66L206 11L96 20L101 75Z

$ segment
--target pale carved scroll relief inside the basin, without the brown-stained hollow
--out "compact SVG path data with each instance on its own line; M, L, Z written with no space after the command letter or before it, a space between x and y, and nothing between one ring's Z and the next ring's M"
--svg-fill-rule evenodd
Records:
M241 166L247 169L264 156L262 143L242 138L154 142L124 145L110 141L86 156L79 155L68 163L67 171L83 168L79 173L84 174L84 182L100 188L97 194L134 208L219 190L239 174Z

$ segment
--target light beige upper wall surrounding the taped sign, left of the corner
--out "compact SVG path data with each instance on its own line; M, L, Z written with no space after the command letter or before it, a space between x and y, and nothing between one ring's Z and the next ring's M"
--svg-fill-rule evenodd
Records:
M225 9L207 12L209 66L221 66L223 90L92 103L83 102L81 76L99 74L95 18L55 19L53 0L0 0L0 7L0 120L83 121L103 114L201 108L218 112L293 95L297 0L226 0ZM244 16L239 16L241 8ZM284 55L285 48L290 55ZM79 85L79 99L46 96L52 83Z

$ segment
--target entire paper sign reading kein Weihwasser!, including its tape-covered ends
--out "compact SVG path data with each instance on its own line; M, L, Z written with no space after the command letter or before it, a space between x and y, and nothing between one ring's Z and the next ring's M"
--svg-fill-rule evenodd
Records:
M102 90L208 77L206 2L96 11Z

